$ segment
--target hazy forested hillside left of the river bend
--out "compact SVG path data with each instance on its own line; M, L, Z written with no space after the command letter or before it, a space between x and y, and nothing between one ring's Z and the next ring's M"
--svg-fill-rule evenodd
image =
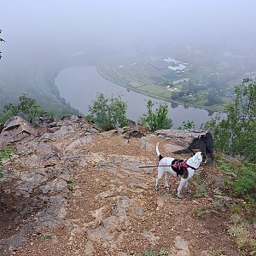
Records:
M96 56L95 56L96 58ZM55 116L79 114L60 96L55 86L55 77L67 67L92 65L90 55L61 55L46 64L37 61L20 62L0 61L0 113L9 102L17 102L20 95L36 99L39 106ZM85 62L84 62L85 61ZM87 103L84 102L84 105ZM89 102L88 102L89 104Z

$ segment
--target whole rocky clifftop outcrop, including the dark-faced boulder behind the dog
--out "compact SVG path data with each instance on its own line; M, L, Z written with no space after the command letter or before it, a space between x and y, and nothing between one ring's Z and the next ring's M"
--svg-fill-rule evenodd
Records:
M157 165L159 141L166 153L184 159L189 148L211 153L207 132L163 130L145 136L134 126L100 132L76 116L40 122L32 127L37 134L16 141L15 155L4 161L9 176L0 189L0 252L14 252L33 239L42 243L47 230L57 236L53 251L44 252L40 243L32 245L35 251L17 254L125 256L165 247L170 255L190 255L195 241L190 244L183 230L201 236L193 222L193 198L185 195L187 202L179 204L175 183L173 196L155 195L155 168L138 166Z

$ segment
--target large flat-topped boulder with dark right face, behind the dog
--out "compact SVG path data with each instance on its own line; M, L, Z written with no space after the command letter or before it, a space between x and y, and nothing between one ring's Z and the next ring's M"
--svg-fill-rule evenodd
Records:
M174 154L188 154L193 149L200 149L207 154L209 160L213 160L213 140L210 131L158 130L155 134L177 146L172 152Z

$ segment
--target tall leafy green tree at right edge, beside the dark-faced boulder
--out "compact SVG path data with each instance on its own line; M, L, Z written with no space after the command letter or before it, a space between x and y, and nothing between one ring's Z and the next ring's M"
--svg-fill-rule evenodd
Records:
M256 81L243 79L236 86L235 100L205 128L212 131L217 149L256 162Z

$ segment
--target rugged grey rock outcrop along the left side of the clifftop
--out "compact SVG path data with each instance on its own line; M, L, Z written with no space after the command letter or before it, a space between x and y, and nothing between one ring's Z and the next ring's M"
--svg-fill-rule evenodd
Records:
M98 132L94 125L75 116L41 122L41 126L33 126L15 117L6 122L0 134L1 145L15 143L17 151L10 160L4 160L3 172L9 175L0 190L1 233L11 229L12 223L16 232L0 239L0 252L10 252L26 244L28 233L40 234L44 226L61 223L73 190L76 159L76 155L65 154L65 149L74 151L77 140L81 147ZM3 218L9 211L11 222Z

